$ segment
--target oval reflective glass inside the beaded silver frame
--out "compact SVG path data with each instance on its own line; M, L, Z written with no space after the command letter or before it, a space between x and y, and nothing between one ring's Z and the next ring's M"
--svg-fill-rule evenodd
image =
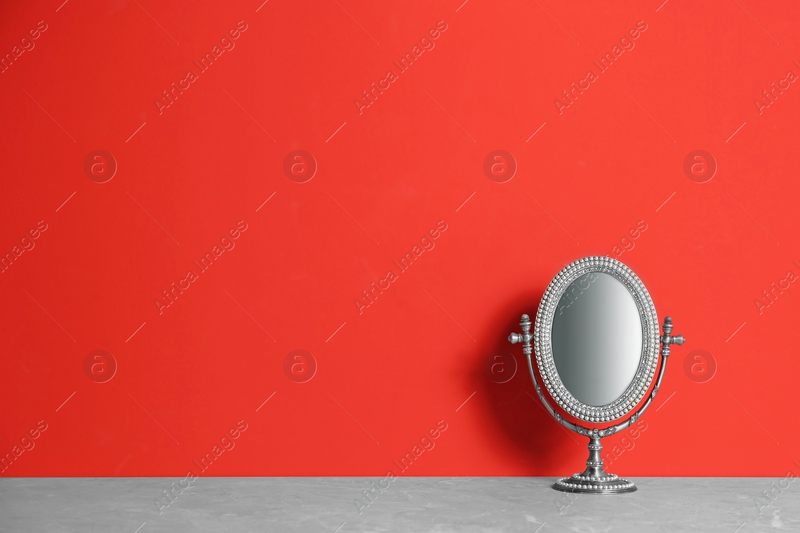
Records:
M567 391L595 407L622 396L642 359L642 330L636 301L617 278L589 272L574 280L552 329L553 361Z

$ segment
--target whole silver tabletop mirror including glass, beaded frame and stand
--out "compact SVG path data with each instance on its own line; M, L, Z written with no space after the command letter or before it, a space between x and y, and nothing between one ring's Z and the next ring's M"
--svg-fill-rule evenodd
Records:
M670 345L683 344L683 336L672 335L669 316L659 336L653 300L642 280L610 257L585 257L558 272L542 296L534 333L531 325L522 315L522 334L512 333L508 340L524 344L539 400L560 424L589 437L586 470L558 479L553 487L591 494L635 491L634 483L604 470L600 440L628 428L650 406ZM614 424L590 429L570 418Z

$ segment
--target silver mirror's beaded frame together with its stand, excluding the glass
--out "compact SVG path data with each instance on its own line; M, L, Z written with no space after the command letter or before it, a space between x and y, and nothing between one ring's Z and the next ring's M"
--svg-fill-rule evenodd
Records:
M611 404L602 407L594 407L582 404L574 396L570 394L558 377L558 372L553 363L552 345L550 344L550 333L553 326L553 317L555 310L558 308L558 301L561 300L563 292L570 284L589 272L606 272L614 276L625 284L626 288L634 300L639 310L639 315L642 317L642 331L643 346L642 346L642 360L639 362L637 375L634 376L633 382L630 384L626 392ZM542 302L539 304L539 310L536 316L536 328L534 333L530 333L530 317L522 315L522 320L519 325L522 327L522 334L511 333L508 340L514 344L518 342L523 343L522 353L525 354L528 360L528 368L530 369L530 378L534 381L536 392L539 400L542 401L545 408L550 415L562 424L564 427L578 433L582 436L589 437L589 459L586 460L586 470L578 472L571 477L558 479L553 485L553 488L558 491L567 492L582 492L588 494L619 494L623 492L633 492L636 490L636 485L627 479L619 478L615 474L609 474L603 468L602 463L602 437L614 435L614 433L621 432L623 429L628 428L638 420L639 416L645 412L645 409L650 406L655 398L658 388L661 386L661 381L664 378L664 369L666 368L666 360L670 356L670 344L681 345L685 339L682 335L672 335L672 318L666 316L662 329L664 334L658 336L658 325L656 321L656 313L653 305L653 300L650 299L650 294L647 292L642 280L621 262L611 259L610 257L585 257L581 260L570 263L561 272L554 277L547 287L547 290L542 296ZM570 420L566 420L555 408L550 405L545 399L542 392L542 387L539 385L539 380L534 372L534 364L531 353L534 347L531 346L531 341L536 345L536 362L547 392L556 403L561 406L566 412L575 416L579 420L588 422L610 422L619 420L624 416L633 412L634 408L646 395L647 390L652 385L650 396L647 398L642 407L638 411L630 415L626 420L619 424L611 425L608 428L589 429L580 424L574 424ZM658 350L658 343L661 343L661 350ZM658 362L658 353L661 354L661 365L658 368L658 377L653 381L655 365Z

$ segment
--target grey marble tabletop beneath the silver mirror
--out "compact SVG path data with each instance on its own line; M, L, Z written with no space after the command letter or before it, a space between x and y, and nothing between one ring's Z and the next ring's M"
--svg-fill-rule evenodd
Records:
M634 478L626 495L572 495L553 481L4 478L0 531L800 531L794 479Z

